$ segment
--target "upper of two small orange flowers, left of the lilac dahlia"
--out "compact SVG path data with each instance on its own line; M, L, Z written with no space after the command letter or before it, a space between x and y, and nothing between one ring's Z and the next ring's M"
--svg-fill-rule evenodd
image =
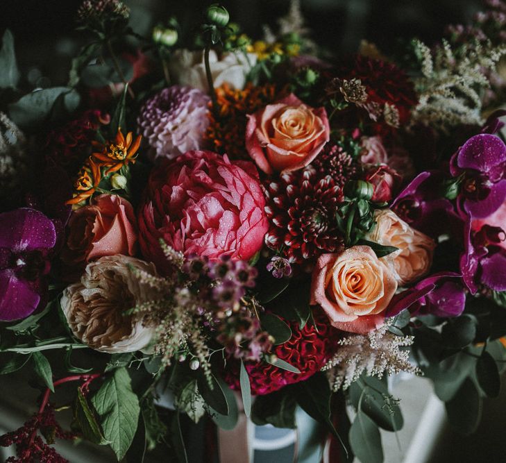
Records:
M138 135L133 143L132 140L133 135L131 132L128 132L125 138L123 133L121 133L121 128L118 128L114 142L108 144L92 142L96 149L101 150L100 152L92 153L92 157L99 161L100 167L109 167L104 173L105 176L119 171L121 167L128 165L128 162L135 162L142 136Z

